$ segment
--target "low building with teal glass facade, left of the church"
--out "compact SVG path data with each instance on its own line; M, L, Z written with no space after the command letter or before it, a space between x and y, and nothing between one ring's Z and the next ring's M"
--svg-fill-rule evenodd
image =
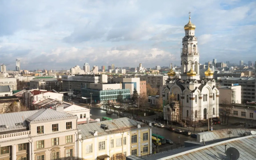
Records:
M121 92L123 100L130 100L130 89L118 90L93 90L89 88L82 88L82 97L90 98L92 93L92 100L94 102L108 102L108 100L116 101L117 96Z

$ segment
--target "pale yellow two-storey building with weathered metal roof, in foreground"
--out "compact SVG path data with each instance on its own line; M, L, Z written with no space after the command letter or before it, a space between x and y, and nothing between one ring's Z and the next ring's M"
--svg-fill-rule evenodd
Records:
M150 126L129 118L78 125L79 158L118 160L152 154Z

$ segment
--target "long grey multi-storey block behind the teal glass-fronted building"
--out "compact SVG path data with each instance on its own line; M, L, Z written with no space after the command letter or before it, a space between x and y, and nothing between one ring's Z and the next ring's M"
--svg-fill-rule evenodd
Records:
M62 90L80 91L81 88L88 88L90 83L106 83L108 76L101 75L82 75L82 76L62 76Z

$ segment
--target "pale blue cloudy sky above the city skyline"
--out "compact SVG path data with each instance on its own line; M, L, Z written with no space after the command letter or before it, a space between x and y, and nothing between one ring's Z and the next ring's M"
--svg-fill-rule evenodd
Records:
M184 25L200 63L256 61L255 0L1 0L0 64L14 70L180 66Z

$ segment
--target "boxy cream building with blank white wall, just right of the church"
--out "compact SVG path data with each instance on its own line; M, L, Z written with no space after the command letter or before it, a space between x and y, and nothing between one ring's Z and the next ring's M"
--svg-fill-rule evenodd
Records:
M241 103L241 86L220 86L219 104Z

